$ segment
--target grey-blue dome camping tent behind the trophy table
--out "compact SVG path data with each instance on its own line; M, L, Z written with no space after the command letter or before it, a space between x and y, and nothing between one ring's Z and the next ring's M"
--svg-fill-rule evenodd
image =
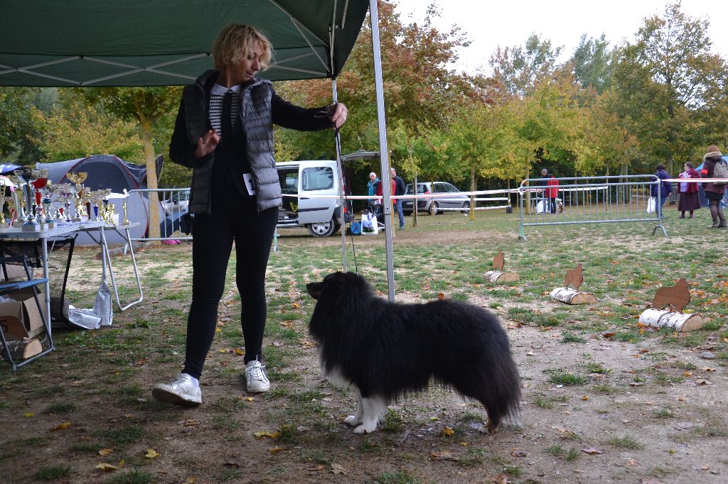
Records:
M66 174L68 172L86 172L88 174L84 186L90 190L111 188L112 193L123 193L124 190L146 189L146 167L124 161L114 155L94 155L87 158L77 158L54 163L38 163L38 169L48 170L48 180L57 183L70 183ZM157 157L157 177L162 172L162 156ZM132 193L127 199L127 217L132 222L141 222L139 227L130 230L132 238L142 238L147 230L147 197L143 193ZM114 210L123 217L122 203L124 199L109 197L109 203L114 203ZM121 243L122 238L113 230L107 231L108 243ZM80 235L76 240L79 244L93 243L87 235Z

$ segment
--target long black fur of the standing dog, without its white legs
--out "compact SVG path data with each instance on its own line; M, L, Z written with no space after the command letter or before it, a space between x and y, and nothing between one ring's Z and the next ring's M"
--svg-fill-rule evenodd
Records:
M323 369L355 385L360 406L361 398L386 404L432 379L482 403L490 432L518 416L518 368L490 312L447 299L388 302L355 273L332 273L306 291L317 299L309 332Z

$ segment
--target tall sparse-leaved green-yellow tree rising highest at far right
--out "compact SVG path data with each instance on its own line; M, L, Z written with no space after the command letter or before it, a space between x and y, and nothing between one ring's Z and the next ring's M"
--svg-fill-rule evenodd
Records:
M668 4L663 15L644 20L614 70L620 116L670 173L673 158L687 156L692 133L700 129L694 111L721 82L707 29L708 20L689 17L679 1Z

